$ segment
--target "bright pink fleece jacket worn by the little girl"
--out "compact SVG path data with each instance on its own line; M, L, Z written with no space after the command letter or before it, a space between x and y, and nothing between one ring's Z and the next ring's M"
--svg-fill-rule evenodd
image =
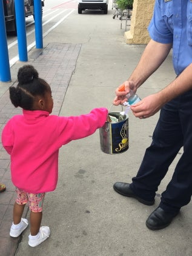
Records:
M46 111L23 110L2 130L2 144L11 156L13 184L38 194L55 190L59 148L93 134L107 120L108 110L93 109L87 115L56 116Z

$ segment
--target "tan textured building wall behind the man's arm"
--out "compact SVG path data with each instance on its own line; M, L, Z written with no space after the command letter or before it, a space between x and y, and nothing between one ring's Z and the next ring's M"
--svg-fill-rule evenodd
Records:
M134 0L130 30L125 32L127 44L147 44L150 36L147 31L153 15L155 0Z

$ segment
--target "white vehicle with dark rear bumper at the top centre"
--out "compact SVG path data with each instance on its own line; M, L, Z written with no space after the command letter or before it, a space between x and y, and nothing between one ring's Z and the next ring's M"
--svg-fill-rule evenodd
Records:
M108 12L108 0L78 0L78 13L84 10L103 10L104 14Z

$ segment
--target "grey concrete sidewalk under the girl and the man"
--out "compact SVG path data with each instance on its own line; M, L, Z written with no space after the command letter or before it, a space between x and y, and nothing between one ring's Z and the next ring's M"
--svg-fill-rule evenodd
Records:
M33 64L53 90L54 114L70 116L88 113L94 107L109 108L114 90L136 66L145 45L126 45L120 21L112 17L112 10L108 15L78 15L75 11L44 38L42 53L36 49L29 53L27 64ZM24 64L17 62L12 67L13 83ZM169 56L137 93L144 98L173 78ZM13 83L0 84L1 129L12 115L21 113L8 97ZM119 107L114 108L118 111ZM29 228L19 238L9 237L15 188L10 180L10 160L1 144L0 178L7 190L0 194L0 256L191 256L191 203L166 229L154 232L145 226L182 152L159 186L154 206L144 206L113 190L114 182L129 182L136 175L157 118L158 113L137 120L130 113L130 148L126 153L101 152L99 131L62 147L58 186L47 193L42 218L42 226L50 226L51 236L36 248L28 246ZM27 207L25 215L29 217Z

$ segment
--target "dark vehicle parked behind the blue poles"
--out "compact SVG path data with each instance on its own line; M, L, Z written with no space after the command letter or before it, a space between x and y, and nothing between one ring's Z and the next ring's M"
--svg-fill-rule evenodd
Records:
M33 0L24 0L25 3L25 17L33 15L34 7ZM14 0L3 0L4 4L4 15L5 15L5 26L7 32L14 32L16 34L16 18L15 18L15 1ZM44 0L41 1L42 7L44 7Z

